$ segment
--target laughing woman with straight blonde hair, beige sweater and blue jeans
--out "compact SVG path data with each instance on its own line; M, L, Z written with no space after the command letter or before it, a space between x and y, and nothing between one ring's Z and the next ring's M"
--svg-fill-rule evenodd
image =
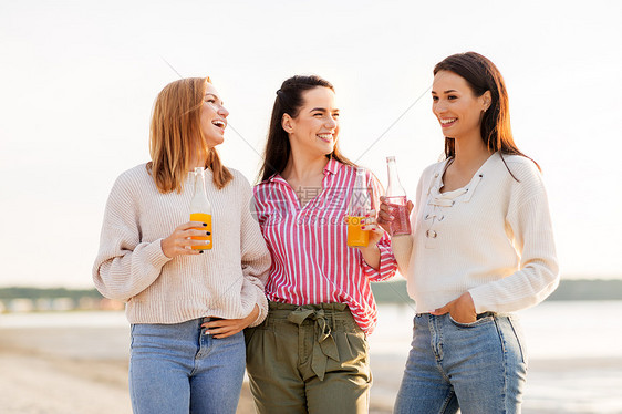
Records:
M227 110L207 79L158 94L152 162L123 173L111 192L93 268L97 290L126 302L132 323L134 413L235 413L245 371L242 330L268 312L270 253L251 217L252 192L221 165ZM207 224L188 221L195 167L207 169Z

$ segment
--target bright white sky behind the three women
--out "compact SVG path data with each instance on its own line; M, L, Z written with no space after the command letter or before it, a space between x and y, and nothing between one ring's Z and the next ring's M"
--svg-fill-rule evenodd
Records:
M414 195L439 159L434 65L501 71L515 141L542 167L564 278L622 278L618 1L4 1L0 4L0 287L90 288L115 178L147 162L157 93L209 75L226 165L252 183L274 92L336 90L343 153Z

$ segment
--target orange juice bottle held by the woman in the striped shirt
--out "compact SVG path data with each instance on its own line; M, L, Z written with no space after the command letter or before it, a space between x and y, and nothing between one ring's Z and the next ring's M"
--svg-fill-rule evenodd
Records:
M371 210L372 203L367 189L365 168L356 168L356 182L352 189L352 198L348 207L348 246L366 247L370 244L370 231L362 230L365 215Z

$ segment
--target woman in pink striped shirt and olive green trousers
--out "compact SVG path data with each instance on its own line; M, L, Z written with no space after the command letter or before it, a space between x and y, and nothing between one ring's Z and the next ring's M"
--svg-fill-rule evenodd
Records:
M396 270L390 239L346 245L356 166L341 155L333 86L293 76L277 91L261 183L261 231L272 255L268 319L247 330L247 370L259 413L366 413L366 334L376 323L370 281ZM366 174L375 205L382 187Z

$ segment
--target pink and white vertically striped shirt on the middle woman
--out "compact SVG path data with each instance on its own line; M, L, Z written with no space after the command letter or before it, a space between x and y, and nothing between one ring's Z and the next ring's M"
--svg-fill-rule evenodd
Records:
M274 174L255 187L256 209L263 238L272 255L266 284L268 299L292 304L346 303L354 320L371 333L377 310L370 281L386 280L397 268L385 234L377 247L380 269L348 247L344 217L352 196L356 168L330 159L322 188L307 190L301 207L294 189ZM372 206L380 206L382 185L367 173Z

